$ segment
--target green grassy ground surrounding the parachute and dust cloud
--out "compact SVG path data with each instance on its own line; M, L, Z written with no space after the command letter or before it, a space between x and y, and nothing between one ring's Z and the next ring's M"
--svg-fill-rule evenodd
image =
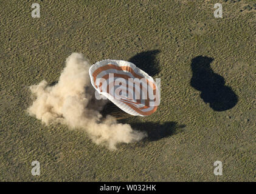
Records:
M38 1L41 18L33 2L0 2L0 181L256 181L255 1L220 0L223 18L201 0ZM25 112L27 86L57 81L72 52L94 63L153 50L155 66L142 69L161 78L161 105L122 121L147 130L144 141L113 152ZM215 112L190 85L199 55L214 58L238 96L232 109ZM213 174L216 160L223 176Z

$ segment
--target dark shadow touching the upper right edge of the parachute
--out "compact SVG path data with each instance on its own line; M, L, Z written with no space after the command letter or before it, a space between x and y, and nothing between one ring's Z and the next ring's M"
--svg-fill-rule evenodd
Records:
M135 64L139 69L147 72L148 75L154 76L160 72L159 63L156 61L156 55L159 52L160 50L150 50L137 53L132 58L128 59L128 61Z

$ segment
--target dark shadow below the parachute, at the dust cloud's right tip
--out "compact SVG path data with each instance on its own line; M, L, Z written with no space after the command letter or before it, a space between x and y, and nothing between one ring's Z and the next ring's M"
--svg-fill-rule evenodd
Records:
M145 141L158 141L162 138L168 138L171 135L178 133L179 129L183 129L185 125L178 125L177 122L136 122L130 123L134 130L147 132L148 136Z

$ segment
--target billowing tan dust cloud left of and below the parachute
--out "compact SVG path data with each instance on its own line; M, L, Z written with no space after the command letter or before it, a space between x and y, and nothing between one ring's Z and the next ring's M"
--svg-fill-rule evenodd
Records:
M89 78L90 66L82 54L72 53L66 59L57 84L49 85L43 80L30 86L33 104L27 109L29 115L46 125L60 123L73 130L83 130L96 144L111 150L120 142L140 141L147 136L133 130L129 124L118 123L113 116L102 119L100 111L107 101L95 99Z

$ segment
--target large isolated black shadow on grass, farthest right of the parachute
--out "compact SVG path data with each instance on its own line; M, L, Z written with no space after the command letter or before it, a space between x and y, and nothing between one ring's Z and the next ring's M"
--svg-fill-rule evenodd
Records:
M200 97L215 111L229 110L238 102L235 92L225 85L222 76L214 73L210 67L213 58L196 56L192 59L191 69L193 72L190 85L201 91Z

